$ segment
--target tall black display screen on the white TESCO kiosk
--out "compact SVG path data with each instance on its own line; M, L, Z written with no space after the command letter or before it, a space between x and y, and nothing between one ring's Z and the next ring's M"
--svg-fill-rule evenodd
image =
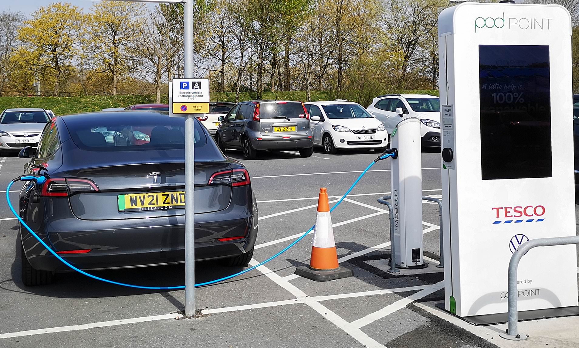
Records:
M482 180L552 177L549 46L479 45Z

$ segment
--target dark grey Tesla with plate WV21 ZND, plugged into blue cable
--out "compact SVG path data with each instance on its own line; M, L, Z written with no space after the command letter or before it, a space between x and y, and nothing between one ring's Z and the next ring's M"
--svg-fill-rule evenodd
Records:
M185 259L184 118L162 111L57 116L42 132L25 174L20 214L54 251L85 270L182 263ZM146 134L113 141L108 133ZM105 134L103 134L105 133ZM120 135L119 135L120 136ZM223 156L195 120L195 259L250 261L258 211L245 167ZM67 266L23 226L22 279L50 283ZM19 246L20 247L20 246Z

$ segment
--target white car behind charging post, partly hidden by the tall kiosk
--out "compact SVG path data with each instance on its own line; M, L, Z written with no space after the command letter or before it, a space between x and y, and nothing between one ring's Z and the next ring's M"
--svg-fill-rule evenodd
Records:
M422 146L440 146L440 99L427 94L384 94L372 100L367 108L382 121L388 134L401 120L408 117L420 119Z

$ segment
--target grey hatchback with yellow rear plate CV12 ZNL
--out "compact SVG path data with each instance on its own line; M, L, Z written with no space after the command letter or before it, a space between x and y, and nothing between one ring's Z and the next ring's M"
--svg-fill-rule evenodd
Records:
M241 149L245 159L258 151L299 151L302 157L314 151L310 116L300 101L243 101L219 121L219 148Z

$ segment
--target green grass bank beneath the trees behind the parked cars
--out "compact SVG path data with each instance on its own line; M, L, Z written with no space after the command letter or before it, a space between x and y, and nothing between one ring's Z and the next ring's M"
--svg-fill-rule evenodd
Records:
M433 94L438 90L409 90L400 93ZM312 101L332 100L331 91L311 91ZM240 93L239 100L254 100L255 92ZM264 99L306 100L306 91L263 92ZM212 101L235 101L235 92L211 93ZM168 101L168 96L161 98ZM133 104L155 102L155 96L88 96L88 97L0 97L0 110L7 108L43 108L54 111L56 115L100 111L105 108L127 107Z

